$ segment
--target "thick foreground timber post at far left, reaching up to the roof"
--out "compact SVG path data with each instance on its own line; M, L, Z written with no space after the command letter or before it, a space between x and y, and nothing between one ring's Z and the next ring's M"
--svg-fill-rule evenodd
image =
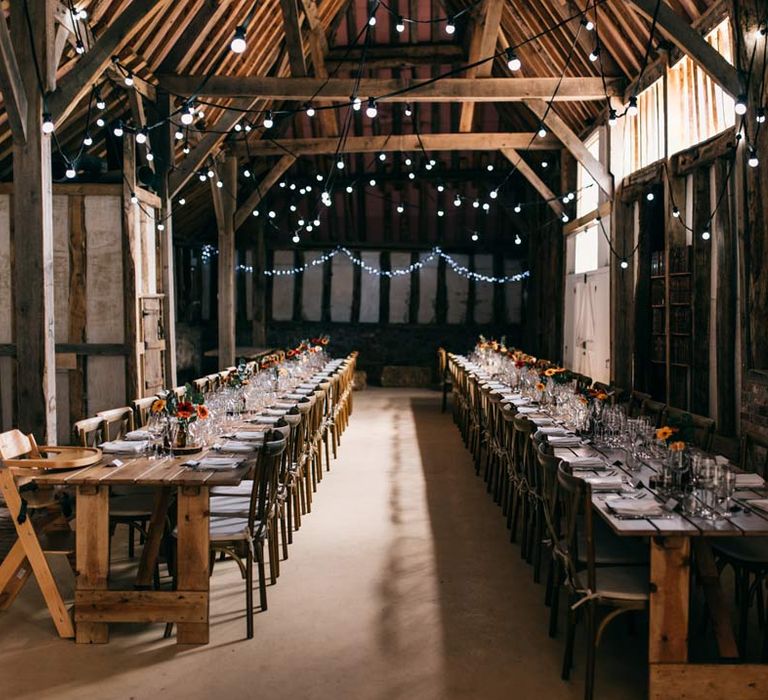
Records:
M22 28L29 8L35 46ZM53 304L53 187L51 137L42 132L43 98L35 56L45 71L53 51L52 0L11 4L19 75L27 95L26 141L14 139L14 284L16 316L16 417L18 427L56 442L56 355ZM3 19L3 22L5 20ZM34 52L34 53L33 53ZM55 76L43 76L50 84Z

